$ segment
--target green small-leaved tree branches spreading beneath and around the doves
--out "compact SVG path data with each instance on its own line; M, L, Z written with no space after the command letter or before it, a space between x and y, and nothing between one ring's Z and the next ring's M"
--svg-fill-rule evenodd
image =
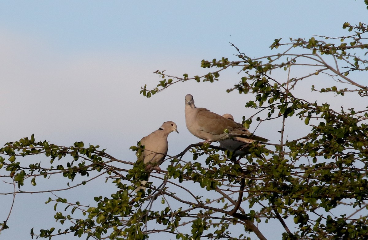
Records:
M65 230L40 230L32 236L51 238L71 233L93 239L146 239L154 233L172 234L176 239L266 239L259 224L279 222L284 233L279 238L291 239L365 239L368 236L368 87L365 79L354 79L357 72L368 71L368 26L345 23L349 36L314 36L308 40L275 39L270 48L279 53L250 58L237 51L237 61L228 58L202 60L202 68L215 69L203 76L183 78L159 74L160 83L152 90L142 87L141 93L151 97L179 82L213 82L220 80L226 69L240 68L241 78L227 92L252 94L246 104L259 113L258 121L280 119L280 144L275 151L250 144L250 154L234 161L231 153L208 145L194 144L183 153L168 158L166 170L151 173L160 185L148 185L147 192L134 189L146 178L142 162L118 160L98 146L84 147L82 142L63 147L30 138L5 144L0 149L0 168L13 178L21 194L25 181L36 185L38 178L63 175L73 182L76 177L91 176L73 188L105 176L116 186L110 197L96 196L94 203L70 203L65 198L49 198L66 205L54 218L68 225ZM329 42L327 42L329 41ZM363 57L362 57L363 56ZM307 69L306 74L290 77L291 68ZM278 71L287 78L274 77ZM311 70L312 69L312 70ZM305 72L305 71L304 71ZM357 109L333 109L330 104L310 102L295 95L294 89L303 80L324 74L338 86L310 85L312 91L348 97L357 94L362 101ZM282 80L286 79L286 80ZM343 86L343 87L340 87ZM250 125L254 116L244 118ZM285 140L285 119L302 121L309 134ZM131 147L137 155L143 146ZM190 151L184 158L184 154ZM25 166L19 159L44 154L49 167L41 163ZM263 156L262 156L263 155ZM71 161L62 162L68 157ZM62 162L62 164L61 164ZM56 165L56 164L59 165ZM343 214L341 214L344 212ZM68 212L69 213L69 212ZM291 221L290 221L291 220ZM256 224L255 224L256 223ZM8 228L6 221L1 230ZM296 230L294 230L296 229Z

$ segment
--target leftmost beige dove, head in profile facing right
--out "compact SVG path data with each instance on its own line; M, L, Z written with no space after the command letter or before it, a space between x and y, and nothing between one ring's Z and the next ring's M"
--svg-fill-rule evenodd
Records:
M148 170L150 170L151 168L156 170L160 169L159 165L162 164L167 154L167 149L169 148L167 136L169 135L169 133L174 131L179 133L176 128L176 123L171 121L164 122L158 130L141 139L141 146L145 147L138 160L143 160L144 163L147 165ZM143 189L145 191L145 184L146 181L141 181L141 186L137 187L135 191L137 192L140 189Z

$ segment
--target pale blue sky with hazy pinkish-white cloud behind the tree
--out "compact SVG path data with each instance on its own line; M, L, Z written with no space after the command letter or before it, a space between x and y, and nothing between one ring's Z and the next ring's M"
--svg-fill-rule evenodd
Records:
M185 127L186 94L198 107L231 113L239 122L252 113L244 108L251 96L226 93L240 78L229 72L219 82L180 83L145 98L141 86L160 80L153 72L205 74L202 59L236 60L230 43L258 57L273 53L269 46L281 37L342 36L343 23L367 23L367 11L354 0L1 1L0 144L34 133L36 140L83 141L135 161L129 147L174 121L179 135L169 135L168 154L176 155L199 141ZM278 140L267 125L257 135ZM31 239L38 222L53 223L52 206L43 204L49 195L18 195L2 239ZM9 199L0 196L1 203ZM0 220L7 213L0 210Z

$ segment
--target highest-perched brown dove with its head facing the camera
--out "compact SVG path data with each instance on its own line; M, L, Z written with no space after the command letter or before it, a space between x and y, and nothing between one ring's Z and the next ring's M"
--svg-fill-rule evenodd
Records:
M268 139L253 135L240 123L210 112L206 108L195 107L191 94L185 96L185 123L189 132L205 140L204 143L225 139L234 139L243 143L268 141Z

